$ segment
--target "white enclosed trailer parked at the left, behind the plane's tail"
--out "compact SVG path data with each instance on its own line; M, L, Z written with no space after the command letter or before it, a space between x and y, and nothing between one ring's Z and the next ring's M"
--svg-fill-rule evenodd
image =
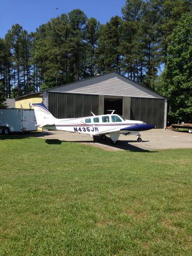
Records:
M0 109L0 134L36 131L36 124L33 109Z

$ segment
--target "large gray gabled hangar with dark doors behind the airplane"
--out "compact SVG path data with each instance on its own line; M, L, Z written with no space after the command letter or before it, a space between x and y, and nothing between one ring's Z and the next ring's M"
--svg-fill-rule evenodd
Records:
M42 98L57 118L90 116L91 111L102 115L116 110L127 119L166 127L166 98L116 71L44 90ZM22 99L16 99L15 105L21 105L17 101Z

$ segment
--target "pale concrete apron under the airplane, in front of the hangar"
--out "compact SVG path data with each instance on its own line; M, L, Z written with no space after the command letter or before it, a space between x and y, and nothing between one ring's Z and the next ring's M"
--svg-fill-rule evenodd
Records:
M173 130L153 129L141 132L142 142L137 142L136 135L120 135L118 144L112 145L111 139L107 137L101 141L100 136L93 138L88 134L78 134L63 131L46 131L42 133L28 134L31 137L38 137L49 140L70 141L85 143L105 150L134 150L146 151L157 149L192 148L192 134L188 132L177 132Z

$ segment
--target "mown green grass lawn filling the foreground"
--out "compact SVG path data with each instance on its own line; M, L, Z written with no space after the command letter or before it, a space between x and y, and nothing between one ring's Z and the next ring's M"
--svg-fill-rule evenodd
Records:
M192 149L0 137L0 255L192 255Z

